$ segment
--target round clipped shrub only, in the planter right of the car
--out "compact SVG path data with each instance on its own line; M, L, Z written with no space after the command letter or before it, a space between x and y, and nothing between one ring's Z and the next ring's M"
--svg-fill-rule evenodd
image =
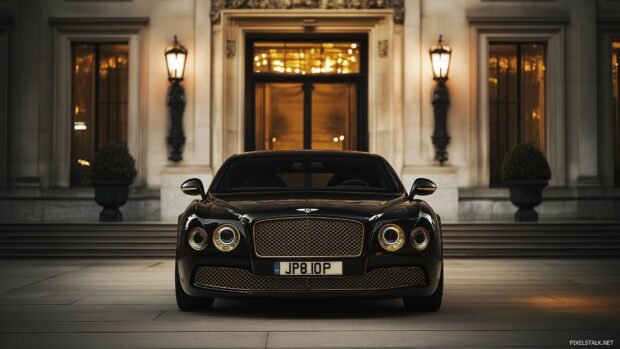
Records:
M519 144L502 163L503 181L548 181L551 169L543 153L531 144Z

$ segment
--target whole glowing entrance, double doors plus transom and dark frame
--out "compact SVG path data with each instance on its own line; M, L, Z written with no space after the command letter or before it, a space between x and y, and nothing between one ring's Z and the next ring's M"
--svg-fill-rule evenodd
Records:
M365 37L248 38L246 150L367 150Z

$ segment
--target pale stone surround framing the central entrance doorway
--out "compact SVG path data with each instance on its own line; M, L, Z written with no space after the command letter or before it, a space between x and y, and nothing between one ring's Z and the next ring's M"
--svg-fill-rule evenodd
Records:
M367 122L368 151L384 156L394 168L402 168L404 149L401 137L403 114L402 43L396 34L393 11L389 9L264 10L222 11L220 24L212 26L213 76L211 99L211 166L214 171L231 155L245 149L245 61L243 49L246 35L251 33L305 33L300 19L315 19L318 33L360 33L368 35ZM349 24L348 19L355 18ZM227 58L228 43L235 41L235 57ZM379 56L379 41L389 44L386 57ZM387 142L386 140L393 140ZM162 199L164 200L164 199ZM163 207L163 206L162 206ZM163 210L163 208L162 208Z

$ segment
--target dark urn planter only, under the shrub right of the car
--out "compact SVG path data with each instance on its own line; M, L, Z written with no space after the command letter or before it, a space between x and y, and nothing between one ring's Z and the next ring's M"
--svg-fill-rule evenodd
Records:
M510 201L519 208L515 213L515 221L538 221L538 212L534 207L542 202L542 192L548 181L521 180L504 183L510 191Z

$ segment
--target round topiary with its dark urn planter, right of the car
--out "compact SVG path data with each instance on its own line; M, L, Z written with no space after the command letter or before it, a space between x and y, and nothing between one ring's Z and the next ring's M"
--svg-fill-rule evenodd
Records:
M516 221L537 221L534 207L542 202L542 192L551 178L545 156L531 144L514 147L502 163L502 180L510 191L510 201L519 209Z

